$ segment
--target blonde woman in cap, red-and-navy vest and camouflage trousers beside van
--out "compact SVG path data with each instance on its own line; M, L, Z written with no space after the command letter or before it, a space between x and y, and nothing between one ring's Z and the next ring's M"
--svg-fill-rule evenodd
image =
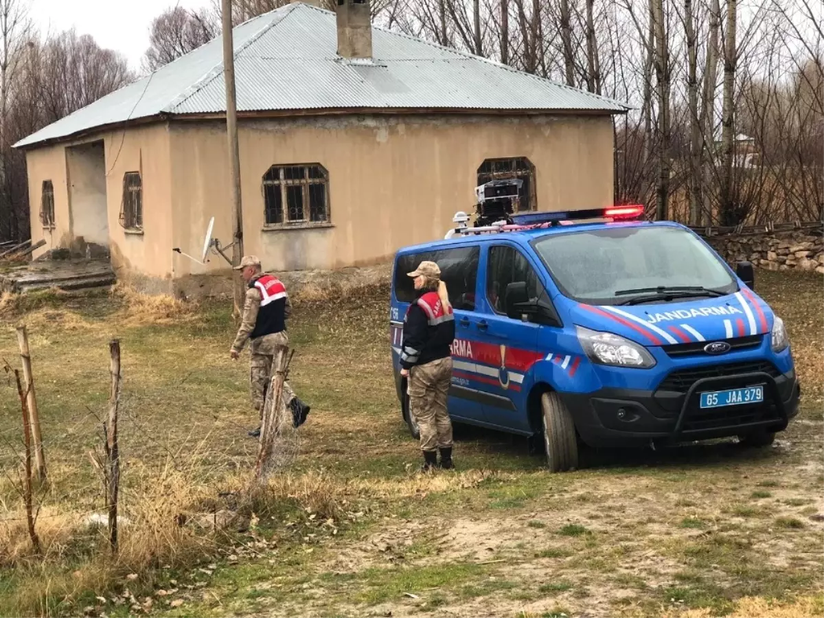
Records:
M447 414L447 395L452 383L452 341L455 316L447 296L441 269L434 262L421 262L414 272L417 299L404 319L400 353L400 375L407 377L410 414L420 428L422 470L452 469L452 422Z

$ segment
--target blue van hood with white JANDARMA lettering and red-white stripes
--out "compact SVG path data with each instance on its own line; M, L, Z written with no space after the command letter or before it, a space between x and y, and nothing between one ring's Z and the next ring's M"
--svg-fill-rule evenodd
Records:
M724 297L618 307L576 302L576 325L621 335L646 346L719 341L772 330L770 307L749 288Z

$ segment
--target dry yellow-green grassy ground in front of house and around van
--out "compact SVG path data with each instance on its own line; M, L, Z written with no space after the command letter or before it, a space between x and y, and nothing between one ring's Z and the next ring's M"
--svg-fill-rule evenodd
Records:
M312 412L294 466L252 501L241 489L256 419L246 358L229 358L229 307L6 299L0 358L16 365L11 326L25 321L50 478L35 495L34 556L16 488L20 407L4 381L0 616L824 616L824 279L759 272L757 288L788 325L803 381L803 412L775 447L588 452L563 475L524 439L481 430L456 443L458 471L417 474L388 289L298 301L290 381ZM104 512L90 452L112 337L124 372L116 558L84 523Z

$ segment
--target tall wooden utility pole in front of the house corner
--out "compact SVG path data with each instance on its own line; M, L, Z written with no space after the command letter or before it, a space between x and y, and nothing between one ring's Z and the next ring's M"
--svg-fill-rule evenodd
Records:
M235 100L235 49L232 41L232 0L222 0L223 77L226 80L226 128L229 139L229 178L232 185L232 266L243 257L243 208L241 203L241 154L237 143L237 102ZM235 283L235 315L243 307L243 282Z

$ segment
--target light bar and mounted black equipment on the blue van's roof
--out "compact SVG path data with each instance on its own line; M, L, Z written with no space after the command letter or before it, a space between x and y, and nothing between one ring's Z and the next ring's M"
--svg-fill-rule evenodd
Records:
M493 182L503 182L502 180L494 180ZM508 182L508 181L507 181ZM521 182L518 180L518 182ZM486 183L476 189L480 196L481 190L487 185ZM480 197L479 197L480 199ZM574 225L576 222L597 220L598 222L615 222L615 221L630 221L632 219L640 218L644 215L644 206L640 204L631 204L625 206L611 206L610 208L586 208L582 210L561 210L552 213L521 213L513 214L510 211L507 216L495 220L489 216L490 213L499 212L499 202L503 199L513 199L512 196L492 196L486 199L484 204L493 204L488 210L481 214L482 204L478 203L478 218L475 221L474 227L469 227L468 222L470 216L463 211L455 213L452 222L457 224L447 232L445 238L453 238L455 236L471 236L472 234L489 234L500 232L526 232L527 230L546 229L549 227L559 225ZM517 196L515 197L517 199ZM483 224L480 224L483 222Z

